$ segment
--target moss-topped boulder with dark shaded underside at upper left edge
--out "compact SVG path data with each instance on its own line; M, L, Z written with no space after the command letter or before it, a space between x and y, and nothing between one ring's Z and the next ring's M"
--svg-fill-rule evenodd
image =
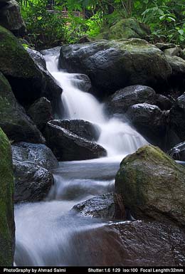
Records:
M0 71L8 78L14 95L26 105L41 97L46 87L41 70L18 39L0 26Z

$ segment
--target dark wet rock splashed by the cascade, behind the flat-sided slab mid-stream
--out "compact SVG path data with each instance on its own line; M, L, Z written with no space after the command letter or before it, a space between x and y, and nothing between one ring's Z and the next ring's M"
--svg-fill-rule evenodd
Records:
M79 135L89 141L97 141L100 137L100 127L92 122L85 120L53 120L51 123L63 127L65 130L69 130L75 135Z

